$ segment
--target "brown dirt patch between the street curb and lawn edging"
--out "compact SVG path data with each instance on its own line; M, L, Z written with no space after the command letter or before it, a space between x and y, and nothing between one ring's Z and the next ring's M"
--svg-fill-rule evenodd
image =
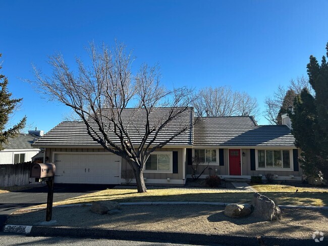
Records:
M267 235L310 238L315 230L328 234L328 211L282 210L280 221L260 221L252 216L240 219L224 215L224 207L204 205L122 206L122 213L98 215L90 206L53 208L56 226L113 228L226 235ZM45 210L12 215L7 224L37 225Z

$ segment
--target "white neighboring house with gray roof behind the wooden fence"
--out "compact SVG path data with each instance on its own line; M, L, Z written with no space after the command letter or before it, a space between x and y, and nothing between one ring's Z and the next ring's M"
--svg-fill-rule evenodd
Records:
M18 134L16 138L8 139L4 150L0 151L0 164L16 164L29 162L32 157L40 152L31 146L38 138L43 136L43 131L28 131L28 134Z

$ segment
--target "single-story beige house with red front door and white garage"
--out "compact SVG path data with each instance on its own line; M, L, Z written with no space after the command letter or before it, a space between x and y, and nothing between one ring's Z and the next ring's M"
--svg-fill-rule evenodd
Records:
M131 115L129 110L132 109L125 109L127 118ZM164 113L166 109L158 110ZM142 121L140 115L135 116ZM162 135L179 128L181 120L191 126L195 120L193 108ZM279 180L301 180L299 151L287 126L257 126L251 116L201 117L196 122L190 131L151 154L144 170L146 184L184 184L191 177L194 156L202 158L203 165L210 162L201 178L208 174L250 178L272 173ZM130 125L130 136L137 144L137 124ZM114 135L110 138L119 143ZM130 169L124 159L93 141L83 122L61 122L32 146L44 148L45 158L56 164L58 183L124 183L122 177Z

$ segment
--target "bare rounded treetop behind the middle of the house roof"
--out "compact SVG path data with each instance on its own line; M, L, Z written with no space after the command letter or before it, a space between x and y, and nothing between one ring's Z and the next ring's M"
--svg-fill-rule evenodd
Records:
M202 116L246 116L258 114L256 98L246 92L233 91L228 86L206 87L198 92L193 103Z

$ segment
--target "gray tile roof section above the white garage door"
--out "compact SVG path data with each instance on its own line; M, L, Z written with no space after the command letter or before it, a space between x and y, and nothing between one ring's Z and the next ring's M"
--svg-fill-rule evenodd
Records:
M171 108L156 108L150 117L151 126L156 126L158 122L162 122L167 118ZM102 112L106 114L106 112ZM108 112L107 112L108 113ZM110 113L108 113L110 115ZM111 116L111 115L110 115ZM173 136L184 125L191 126L193 119L193 108L188 108L179 117L171 121L158 134L154 144L166 140L168 136ZM134 108L126 108L122 113L122 120L126 126L128 133L132 139L133 144L139 144L145 132L144 126L146 123L145 111L135 111ZM105 126L108 128L108 137L116 144L120 144L117 136L113 133L113 126L104 118ZM90 124L97 129L98 127L90 120ZM109 126L109 127L108 127ZM97 131L100 133L99 131ZM153 135L150 135L152 137ZM180 136L174 138L170 145L191 145L192 144L192 130L189 129ZM61 122L58 126L51 129L42 138L34 143L35 146L100 146L88 134L84 122Z

